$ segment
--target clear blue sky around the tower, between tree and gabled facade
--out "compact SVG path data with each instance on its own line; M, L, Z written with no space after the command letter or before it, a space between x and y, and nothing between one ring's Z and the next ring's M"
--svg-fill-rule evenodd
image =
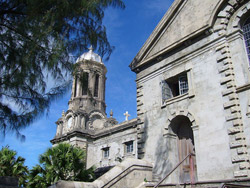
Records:
M108 8L105 11L104 25L108 39L115 46L109 61L104 62L108 69L106 81L106 113L112 109L114 117L122 122L123 113L128 111L129 119L136 118L136 75L128 67L157 23L165 14L173 0L124 0L124 10ZM84 52L82 52L84 53ZM26 159L31 168L38 163L40 154L51 147L50 140L55 136L55 122L67 111L70 91L51 105L50 113L21 131L25 142L16 139L15 134L7 134L0 139L1 146L9 145L18 155Z

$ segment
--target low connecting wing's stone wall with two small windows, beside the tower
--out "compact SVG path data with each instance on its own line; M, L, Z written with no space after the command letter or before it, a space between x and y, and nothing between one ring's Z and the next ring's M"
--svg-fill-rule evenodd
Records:
M131 122L136 123L136 121L137 119L133 119L116 125L116 127L123 127ZM126 152L126 143L129 141L133 142L133 152L131 153ZM104 157L105 148L109 150L108 157ZM109 134L88 140L87 168L93 165L95 167L114 166L126 158L137 158L137 137L134 126L119 131L111 129Z

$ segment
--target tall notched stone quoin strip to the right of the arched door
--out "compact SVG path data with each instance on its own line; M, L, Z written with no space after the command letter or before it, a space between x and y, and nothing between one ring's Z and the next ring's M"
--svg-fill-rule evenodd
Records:
M218 72L221 75L221 94L224 100L223 108L226 114L225 121L230 140L231 160L233 164L237 164L234 177L249 177L250 166L246 136L243 128L240 101L236 92L234 67L227 42L217 47L216 52L217 63L219 64Z

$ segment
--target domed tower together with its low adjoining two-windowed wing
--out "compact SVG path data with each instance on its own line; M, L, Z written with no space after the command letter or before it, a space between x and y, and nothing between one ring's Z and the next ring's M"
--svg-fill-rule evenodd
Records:
M53 145L68 142L87 153L87 168L112 167L126 158L137 158L137 119L118 124L105 112L107 69L90 48L77 60L69 109L58 119ZM125 114L126 115L126 114Z

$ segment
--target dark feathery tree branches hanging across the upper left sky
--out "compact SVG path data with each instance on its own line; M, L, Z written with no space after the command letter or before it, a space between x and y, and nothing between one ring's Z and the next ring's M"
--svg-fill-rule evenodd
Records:
M67 90L69 54L92 44L113 50L102 24L105 8L122 0L0 0L0 131L30 125ZM79 55L79 54L77 54ZM55 81L56 85L51 85ZM50 83L50 85L48 85Z

